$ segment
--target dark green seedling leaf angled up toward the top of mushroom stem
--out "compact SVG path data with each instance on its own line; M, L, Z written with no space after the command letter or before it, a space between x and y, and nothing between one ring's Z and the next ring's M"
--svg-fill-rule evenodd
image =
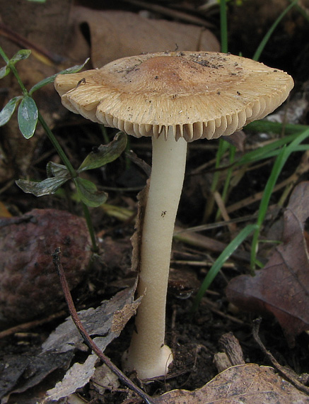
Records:
M127 135L123 132L118 132L108 145L100 145L97 150L91 152L86 159L83 160L77 171L83 172L87 169L96 169L113 162L122 154L126 146Z

